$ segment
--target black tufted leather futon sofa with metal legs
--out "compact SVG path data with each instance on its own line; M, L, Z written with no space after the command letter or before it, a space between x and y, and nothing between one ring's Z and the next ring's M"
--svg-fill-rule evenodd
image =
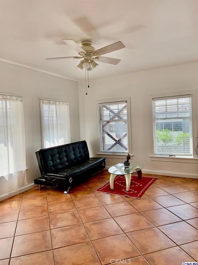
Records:
M90 158L86 141L36 152L41 177L34 184L58 187L68 193L72 184L105 168L105 158Z

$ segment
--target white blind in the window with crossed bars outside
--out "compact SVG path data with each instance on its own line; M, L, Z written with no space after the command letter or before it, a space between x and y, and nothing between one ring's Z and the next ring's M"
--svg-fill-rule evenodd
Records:
M100 103L100 151L128 153L127 101Z

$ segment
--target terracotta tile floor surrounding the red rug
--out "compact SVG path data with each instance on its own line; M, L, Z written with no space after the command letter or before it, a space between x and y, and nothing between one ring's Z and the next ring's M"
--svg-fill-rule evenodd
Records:
M144 176L154 176L143 174ZM0 265L181 265L198 261L198 179L157 176L141 199L38 186L0 202Z

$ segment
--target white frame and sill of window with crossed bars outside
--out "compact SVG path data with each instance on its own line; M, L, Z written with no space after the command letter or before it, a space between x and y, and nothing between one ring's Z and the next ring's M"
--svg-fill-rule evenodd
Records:
M114 102L127 102L127 124L128 124L128 152L102 152L100 149L100 110L99 106L102 103L107 103L111 104ZM104 99L104 100L97 100L96 101L96 112L97 112L97 138L98 138L98 152L97 155L99 157L108 157L108 158L126 158L126 154L130 153L131 154L131 159L132 159L132 148L131 148L131 111L130 111L130 97L126 98L110 98L110 99Z

